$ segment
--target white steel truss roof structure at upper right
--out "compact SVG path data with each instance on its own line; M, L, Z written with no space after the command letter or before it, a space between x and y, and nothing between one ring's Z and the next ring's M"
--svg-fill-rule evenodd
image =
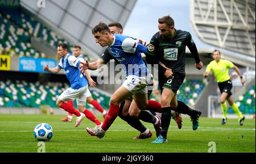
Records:
M192 0L191 23L200 40L254 57L255 1Z

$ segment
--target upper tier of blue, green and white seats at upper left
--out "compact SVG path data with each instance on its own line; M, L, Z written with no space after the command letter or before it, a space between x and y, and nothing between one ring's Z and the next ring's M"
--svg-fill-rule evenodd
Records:
M0 27L0 50L7 51L7 54L11 56L18 54L18 56L27 57L47 57L44 52L38 52L31 46L31 37L41 39L53 48L57 47L59 43L67 43L72 52L71 43L21 9L0 8L0 24L2 24ZM2 52L2 54L6 53Z

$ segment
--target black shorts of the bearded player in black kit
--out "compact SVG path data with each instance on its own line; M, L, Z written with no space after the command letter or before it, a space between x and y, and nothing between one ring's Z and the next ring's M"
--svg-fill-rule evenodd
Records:
M185 79L185 74L174 73L171 78L166 78L163 73L158 74L158 81L161 93L163 89L172 90L175 95Z

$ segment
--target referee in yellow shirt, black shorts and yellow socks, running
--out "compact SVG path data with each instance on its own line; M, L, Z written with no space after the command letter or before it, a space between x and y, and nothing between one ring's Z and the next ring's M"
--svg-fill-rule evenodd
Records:
M245 83L245 79L243 79L242 74L240 72L240 69L234 65L232 62L228 60L221 59L221 53L218 50L215 50L213 52L213 61L211 61L207 65L207 69L204 73L204 77L208 77L210 72L212 71L217 79L218 82L218 87L220 88L221 91L221 108L223 110L223 117L222 117L222 122L221 124L224 125L226 123L227 117L226 117L226 100L228 100L229 105L232 107L234 112L237 113L239 117L239 123L242 126L243 121L245 120L245 116L242 115L240 112L239 108L237 107L236 103L234 103L234 100L232 98L232 81L230 80L229 77L229 68L232 68L236 70L237 74L239 75L241 79L242 85Z

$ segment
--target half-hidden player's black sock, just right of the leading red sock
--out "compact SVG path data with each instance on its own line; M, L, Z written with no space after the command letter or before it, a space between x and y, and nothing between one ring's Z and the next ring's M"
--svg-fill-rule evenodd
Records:
M129 125L131 125L131 127L133 127L134 129L137 129L139 132L143 133L147 130L147 128L141 123L141 121L139 121L138 118L132 118L129 114L127 116L123 116L122 115L122 111L123 111L123 105L125 103L122 103L119 107L119 113L118 116L126 121Z

